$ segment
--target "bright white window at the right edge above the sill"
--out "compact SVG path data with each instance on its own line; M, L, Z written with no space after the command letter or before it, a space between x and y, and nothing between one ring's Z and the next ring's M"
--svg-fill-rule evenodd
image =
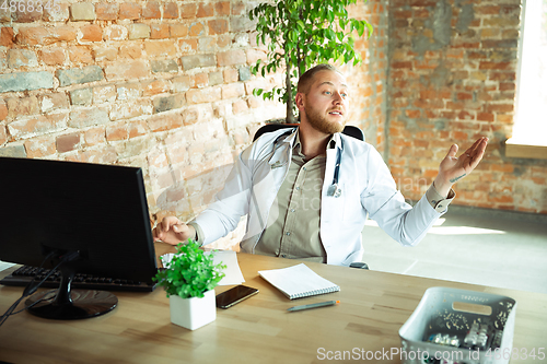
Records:
M514 143L547 145L547 0L524 1Z

